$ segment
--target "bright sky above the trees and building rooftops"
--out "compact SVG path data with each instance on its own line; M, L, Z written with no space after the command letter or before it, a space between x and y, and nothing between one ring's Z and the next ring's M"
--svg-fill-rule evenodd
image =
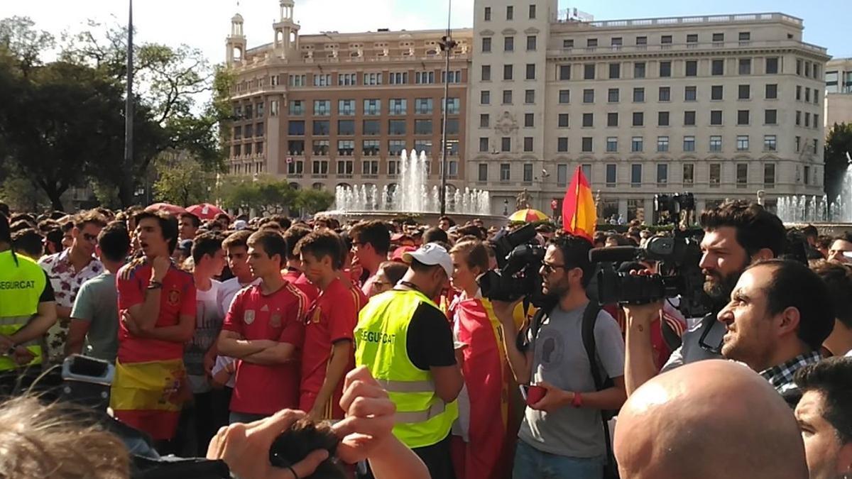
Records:
M295 0L294 16L302 33L375 32L446 28L447 0ZM522 3L522 0L521 0ZM452 26L473 24L473 0L452 1ZM568 7L592 14L595 20L617 20L698 14L782 12L804 20L804 41L828 49L834 57L852 57L852 16L849 0L715 0L707 6L683 0L560 0ZM249 48L273 39L278 0L136 0L136 38L176 46L187 43L201 49L212 63L224 61L230 19L245 19ZM0 0L0 18L28 16L39 29L55 33L78 32L86 20L124 23L127 0Z

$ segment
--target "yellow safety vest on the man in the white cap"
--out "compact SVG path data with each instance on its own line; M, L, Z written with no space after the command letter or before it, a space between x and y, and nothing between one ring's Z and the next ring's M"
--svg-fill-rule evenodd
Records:
M438 308L420 291L383 292L361 309L355 327L355 363L367 366L388 390L396 405L394 436L408 447L442 441L458 417L456 401L446 404L435 394L432 372L408 357L408 325L421 303Z

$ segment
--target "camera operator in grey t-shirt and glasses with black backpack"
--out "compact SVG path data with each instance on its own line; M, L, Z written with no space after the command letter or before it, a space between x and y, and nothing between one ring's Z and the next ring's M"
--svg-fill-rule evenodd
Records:
M515 342L515 303L492 301L505 331L504 347L515 379L546 390L525 411L515 479L603 476L607 444L601 410L618 409L625 401L624 342L613 317L586 297L594 271L590 249L588 240L570 235L548 245L540 273L544 295L556 305L544 315L538 331L529 325L522 329L526 348L519 349ZM596 388L582 334L587 308L598 309L593 331L596 360L614 383L603 390Z

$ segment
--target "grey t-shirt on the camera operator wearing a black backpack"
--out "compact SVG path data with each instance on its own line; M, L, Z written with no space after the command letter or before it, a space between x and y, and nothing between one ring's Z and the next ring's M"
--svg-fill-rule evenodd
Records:
M583 345L585 306L563 311L556 307L543 321L533 348L532 383L545 380L561 390L595 391L589 357ZM618 323L606 311L597 315L595 344L600 371L610 378L625 374L625 341ZM553 413L527 407L521 441L545 453L593 458L606 453L601 413L588 407L562 407Z

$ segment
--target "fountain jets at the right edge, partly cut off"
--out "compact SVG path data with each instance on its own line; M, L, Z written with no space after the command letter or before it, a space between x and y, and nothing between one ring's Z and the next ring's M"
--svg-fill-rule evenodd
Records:
M846 169L840 194L833 201L825 194L780 196L777 213L786 223L852 223L852 164Z

